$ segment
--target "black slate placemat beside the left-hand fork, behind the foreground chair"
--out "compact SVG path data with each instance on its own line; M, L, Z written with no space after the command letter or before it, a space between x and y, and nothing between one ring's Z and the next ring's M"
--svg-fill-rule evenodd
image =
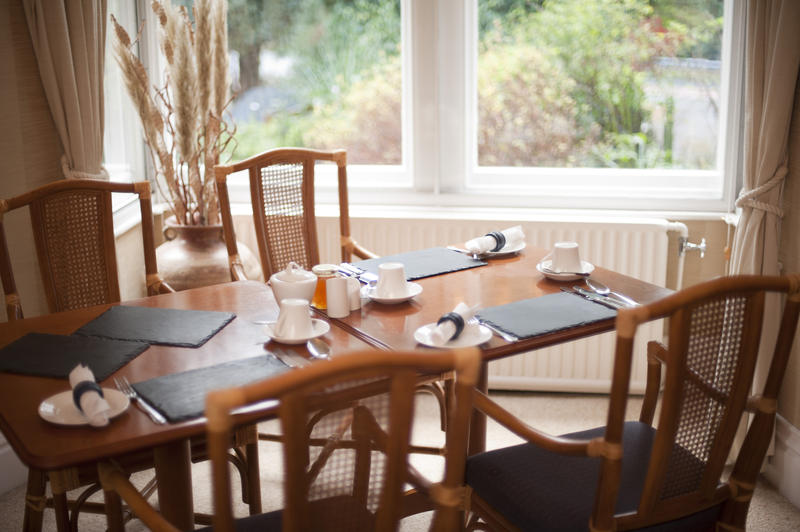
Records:
M243 386L288 370L275 356L262 355L164 375L133 387L169 421L177 422L202 416L206 394L212 390Z

